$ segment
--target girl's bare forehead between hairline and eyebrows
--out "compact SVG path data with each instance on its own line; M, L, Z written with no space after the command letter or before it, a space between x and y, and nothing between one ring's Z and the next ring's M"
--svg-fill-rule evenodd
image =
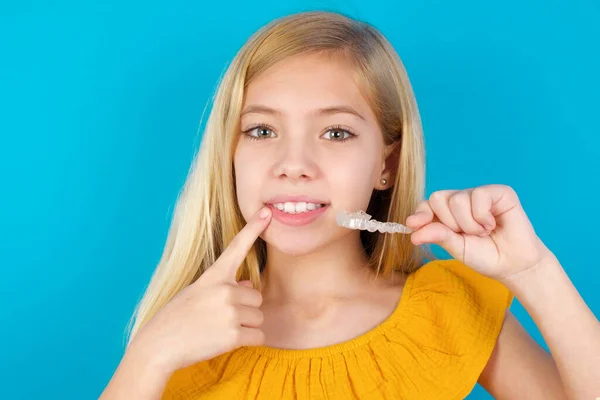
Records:
M246 88L244 105L309 110L335 104L370 114L356 77L355 67L343 58L299 54L257 75Z

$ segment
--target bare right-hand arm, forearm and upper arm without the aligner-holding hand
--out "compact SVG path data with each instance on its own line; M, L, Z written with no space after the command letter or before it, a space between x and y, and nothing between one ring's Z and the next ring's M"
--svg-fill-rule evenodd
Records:
M526 398L542 398L543 386L559 390L560 377L567 398L600 397L600 323L556 257L551 255L503 283L533 318L553 360L509 314L481 376L482 386L492 394L507 393L500 398L522 398L528 391L536 397Z

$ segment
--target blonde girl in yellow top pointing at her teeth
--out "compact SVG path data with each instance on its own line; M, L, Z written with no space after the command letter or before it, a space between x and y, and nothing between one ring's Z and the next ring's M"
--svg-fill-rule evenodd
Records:
M407 73L375 28L309 12L261 29L223 77L102 398L600 396L600 324L516 193L423 200L424 165ZM348 230L340 210L413 233Z

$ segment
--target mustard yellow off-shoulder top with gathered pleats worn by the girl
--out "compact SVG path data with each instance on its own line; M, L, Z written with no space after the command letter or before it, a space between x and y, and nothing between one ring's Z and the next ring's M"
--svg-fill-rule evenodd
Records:
M176 371L171 399L463 399L489 359L513 295L457 260L410 274L373 330L318 349L243 347Z

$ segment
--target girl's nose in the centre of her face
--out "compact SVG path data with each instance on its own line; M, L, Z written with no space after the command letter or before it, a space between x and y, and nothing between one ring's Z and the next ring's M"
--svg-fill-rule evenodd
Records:
M311 149L308 141L286 140L278 150L277 162L273 166L275 178L298 183L317 177L316 149Z

